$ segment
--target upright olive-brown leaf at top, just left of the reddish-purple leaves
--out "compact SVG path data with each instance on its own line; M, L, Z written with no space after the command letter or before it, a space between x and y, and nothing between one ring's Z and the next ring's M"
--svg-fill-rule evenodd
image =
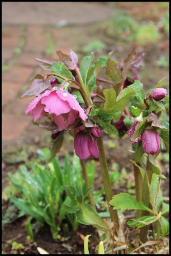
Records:
M106 75L111 81L115 81L115 83L121 83L122 80L122 72L118 67L117 63L111 59L114 51L108 53L108 60L106 64Z

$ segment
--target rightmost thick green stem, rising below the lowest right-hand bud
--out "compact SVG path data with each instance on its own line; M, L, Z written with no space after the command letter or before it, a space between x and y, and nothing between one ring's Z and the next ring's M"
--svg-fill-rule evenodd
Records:
M144 176L144 184L143 184L143 195L142 195L142 202L149 207L150 203L150 193L149 193L149 187L148 187L148 180L149 184L151 183L151 177L153 174L153 169L152 169L152 164L149 161L146 163L146 175ZM149 212L148 211L141 211L141 216L148 216ZM144 244L148 240L148 230L149 226L144 226L141 227L140 229L140 241Z

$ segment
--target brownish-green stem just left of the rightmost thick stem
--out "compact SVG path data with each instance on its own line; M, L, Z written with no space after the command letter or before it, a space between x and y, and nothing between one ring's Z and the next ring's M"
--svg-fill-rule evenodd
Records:
M135 161L136 162L136 161ZM138 163L137 163L138 164ZM143 177L141 172L137 166L134 164L134 177L135 177L135 195L137 202L142 200L142 184L143 184ZM141 210L136 211L137 217L141 216Z

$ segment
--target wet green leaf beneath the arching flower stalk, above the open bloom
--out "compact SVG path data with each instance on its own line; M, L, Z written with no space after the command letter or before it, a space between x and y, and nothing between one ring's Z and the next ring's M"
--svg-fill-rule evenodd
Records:
M75 80L74 76L72 75L72 72L68 70L68 68L65 66L63 62L53 63L51 66L51 73L55 73L61 76L64 76L66 80L73 79ZM60 83L62 83L64 80L60 77L56 77Z

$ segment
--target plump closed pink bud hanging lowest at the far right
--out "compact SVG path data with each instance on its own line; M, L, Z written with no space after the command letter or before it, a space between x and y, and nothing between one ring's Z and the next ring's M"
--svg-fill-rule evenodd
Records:
M158 132L154 129L143 131L142 145L145 153L155 156L160 150L160 136Z

